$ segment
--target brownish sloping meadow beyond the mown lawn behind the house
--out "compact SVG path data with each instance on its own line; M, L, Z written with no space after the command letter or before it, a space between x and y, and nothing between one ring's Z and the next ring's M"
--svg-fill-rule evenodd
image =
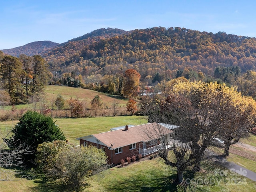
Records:
M68 102L64 102L64 107L62 110L57 110L55 105L55 100L58 95L61 95L64 101L70 98L78 99L83 103L84 113L82 116L95 116L94 111L91 111L91 100L98 95L102 101L101 109L97 111L97 116L114 116L113 105L115 104L116 115L125 115L126 104L128 102L127 98L122 96L117 96L108 93L97 92L94 90L88 90L83 88L74 88L68 86L58 86L58 85L47 85L44 94L40 95L40 100L38 102L29 101L28 104L20 104L16 106L6 106L0 109L0 121L3 120L17 120L28 110L40 111L40 105L45 106L47 109L53 109L47 115L54 117L70 117L70 106Z

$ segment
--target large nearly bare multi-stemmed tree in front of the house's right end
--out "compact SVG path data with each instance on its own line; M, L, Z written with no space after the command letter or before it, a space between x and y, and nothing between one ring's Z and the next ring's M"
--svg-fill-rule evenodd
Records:
M176 166L176 182L181 183L183 172L188 166L194 171L200 170L200 162L204 158L212 138L224 127L224 120L231 118L231 98L226 96L225 89L218 84L182 83L164 100L145 102L142 110L148 115L150 122L175 125L172 142L159 149L159 155L165 164ZM159 130L159 127L156 127ZM156 131L148 131L152 137ZM158 138L165 133L158 131ZM176 161L171 161L169 153Z

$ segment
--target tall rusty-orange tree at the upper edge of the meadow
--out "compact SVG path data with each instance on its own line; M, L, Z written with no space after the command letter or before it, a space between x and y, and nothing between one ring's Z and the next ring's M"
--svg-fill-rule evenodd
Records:
M136 97L139 93L140 74L135 69L125 71L124 96Z

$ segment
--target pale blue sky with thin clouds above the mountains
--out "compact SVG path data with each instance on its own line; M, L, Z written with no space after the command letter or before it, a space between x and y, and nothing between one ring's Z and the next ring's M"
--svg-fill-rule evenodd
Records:
M0 50L99 28L155 26L256 37L255 0L2 0Z

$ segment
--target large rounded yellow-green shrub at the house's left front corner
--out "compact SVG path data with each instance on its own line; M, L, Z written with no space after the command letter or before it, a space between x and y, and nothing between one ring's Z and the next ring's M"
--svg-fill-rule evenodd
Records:
M86 178L106 168L106 159L106 153L94 146L64 148L47 176L59 178L68 191L81 191Z

